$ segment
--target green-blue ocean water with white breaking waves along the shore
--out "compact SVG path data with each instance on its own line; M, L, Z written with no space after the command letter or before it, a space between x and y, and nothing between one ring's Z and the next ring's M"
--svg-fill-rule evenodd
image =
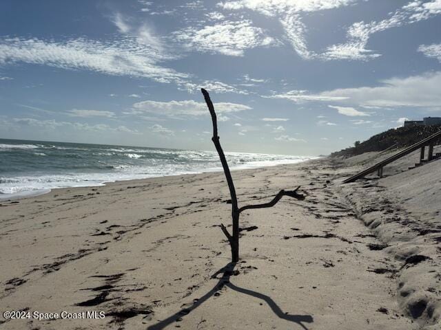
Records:
M315 157L225 153L232 170ZM0 198L52 188L222 170L216 151L0 139Z

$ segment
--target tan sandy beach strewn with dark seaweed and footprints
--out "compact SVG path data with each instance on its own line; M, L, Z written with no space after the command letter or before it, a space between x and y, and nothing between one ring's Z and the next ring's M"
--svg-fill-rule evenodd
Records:
M243 213L237 265L223 173L1 201L0 305L30 318L0 328L440 329L440 164L341 184L377 156L234 171L239 206L307 195Z

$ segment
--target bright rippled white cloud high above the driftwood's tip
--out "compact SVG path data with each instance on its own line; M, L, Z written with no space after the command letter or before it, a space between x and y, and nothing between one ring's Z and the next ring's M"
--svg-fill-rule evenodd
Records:
M185 28L174 32L176 41L183 43L189 50L220 53L229 56L243 56L245 50L267 46L273 42L261 28L251 25L250 21L224 21L203 28Z

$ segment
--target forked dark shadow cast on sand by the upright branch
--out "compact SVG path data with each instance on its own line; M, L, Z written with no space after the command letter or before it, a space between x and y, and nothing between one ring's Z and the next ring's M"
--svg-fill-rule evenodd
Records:
M222 267L220 270L218 270L215 274L212 275L212 278L218 278L218 274L223 273L222 277L220 277L219 282L214 285L213 289L211 289L207 294L202 296L201 298L194 300L193 304L190 307L181 309L181 311L178 311L176 314L169 316L165 320L162 320L161 322L156 323L155 325L151 325L147 328L147 330L161 330L167 327L167 325L172 324L173 322L176 322L176 320L179 320L183 318L185 315L189 314L194 309L201 306L203 303L205 303L206 300L208 300L211 296L213 296L218 290L222 289L224 286L229 287L230 289L240 292L242 294L247 294L249 296L253 296L256 298L259 298L261 300L264 300L265 303L271 308L271 310L278 316L278 318L281 318L283 320L287 320L289 322L294 322L300 325L302 329L308 330L303 323L311 323L314 322L314 318L312 318L311 315L290 315L285 314L280 307L272 300L269 296L266 296L265 294L260 294L259 292L255 292L249 289L244 289L243 287L237 287L236 285L229 282L230 276L234 274L234 267L236 267L236 263L227 263L224 267Z

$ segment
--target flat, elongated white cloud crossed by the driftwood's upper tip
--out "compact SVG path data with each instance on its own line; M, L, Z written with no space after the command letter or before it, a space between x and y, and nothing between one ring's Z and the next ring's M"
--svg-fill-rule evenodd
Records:
M225 113L232 113L238 111L245 111L252 109L244 104L216 102L214 109L218 115L225 115ZM205 102L196 102L194 100L185 101L142 101L133 104L132 114L154 113L156 115L164 115L170 118L180 118L183 116L198 116L209 115L207 104Z

